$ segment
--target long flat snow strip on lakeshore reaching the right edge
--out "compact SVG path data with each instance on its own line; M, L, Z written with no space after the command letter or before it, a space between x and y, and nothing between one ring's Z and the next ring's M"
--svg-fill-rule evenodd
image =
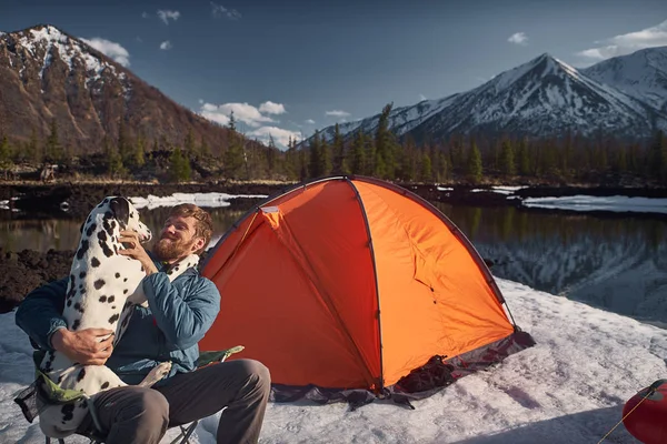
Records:
M628 198L625 195L600 198L578 194L566 198L527 198L522 203L525 206L542 209L667 214L667 199Z

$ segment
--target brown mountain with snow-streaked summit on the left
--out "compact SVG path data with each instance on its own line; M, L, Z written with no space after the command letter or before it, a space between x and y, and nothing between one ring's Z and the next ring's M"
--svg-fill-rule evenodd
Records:
M82 152L126 134L148 143L196 140L223 147L227 130L175 103L83 40L52 27L0 33L0 118L12 139L44 140L54 120L60 143Z

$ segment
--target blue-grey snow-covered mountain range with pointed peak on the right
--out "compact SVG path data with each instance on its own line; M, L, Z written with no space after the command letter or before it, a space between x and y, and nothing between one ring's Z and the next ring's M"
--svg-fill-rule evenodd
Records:
M607 68L614 67L615 59L578 71L545 53L470 91L397 108L390 114L390 128L397 135L410 134L418 141L469 133L541 138L567 132L586 137L598 131L646 138L655 129L667 129L667 83L661 68L667 49L640 52L643 60L651 62L616 62L626 67L615 69L616 74ZM640 58L637 53L631 57ZM621 89L626 83L634 88ZM362 129L372 133L378 118L345 123L340 131L348 134ZM321 134L330 139L334 128L323 129Z

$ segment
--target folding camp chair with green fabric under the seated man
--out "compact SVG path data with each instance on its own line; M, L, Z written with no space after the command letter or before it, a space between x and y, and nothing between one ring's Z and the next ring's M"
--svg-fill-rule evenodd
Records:
M212 364L225 362L225 360L227 360L229 356L231 356L235 353L241 352L242 350L243 350L242 345L237 345L235 347L231 347L228 350L222 350L219 352L202 352L199 354L199 359L197 360L197 369L201 369L207 365L212 365ZM41 351L34 352L33 361L36 363L36 369L39 369L39 363L41 362L42 356L43 356L43 352L41 352ZM51 382L44 374L39 372L39 370L36 370L36 373L37 373L36 382L32 383L30 385L30 387L21 391L14 398L14 402L21 406L21 410L23 411L23 415L30 423L34 420L37 414L34 412L36 404L31 406L31 405L28 405L28 403L34 403L37 397L41 397L41 400L46 403L57 403L57 404L74 402L81 397L89 398L87 395L84 395L80 392L60 389L58 385L56 385L53 382ZM89 402L88 406L89 406L90 415L92 416L92 422L94 424L94 431L89 434L84 434L84 435L79 434L79 435L88 437L90 440L89 444L103 444L106 437L100 427L97 412L94 410L94 403ZM31 411L31 408L32 408L32 411ZM195 428L197 428L198 424L199 424L199 420L192 421L191 423L186 424L186 425L179 425L178 427L180 428L180 434L176 438L173 438L173 441L171 441L170 444L189 444L190 435L192 435L192 433L195 432ZM46 441L44 441L46 444L51 444L51 440L52 440L51 437L46 436ZM64 444L63 438L57 438L56 441L58 442L58 444Z

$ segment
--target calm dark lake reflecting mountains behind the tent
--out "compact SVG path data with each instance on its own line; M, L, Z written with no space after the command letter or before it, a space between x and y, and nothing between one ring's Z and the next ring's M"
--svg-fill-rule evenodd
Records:
M664 216L434 204L482 258L494 262L494 275L667 327ZM215 224L213 240L245 212L238 206L208 210ZM151 229L158 229L167 213L168 208L141 210ZM4 210L4 219L0 219L0 245L6 251L77 246L79 220L10 219L8 214Z

